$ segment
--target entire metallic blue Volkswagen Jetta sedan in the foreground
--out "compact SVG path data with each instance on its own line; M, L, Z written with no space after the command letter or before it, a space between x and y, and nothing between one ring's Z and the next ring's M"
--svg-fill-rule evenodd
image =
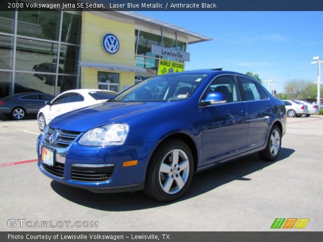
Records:
M256 80L186 71L147 79L108 102L56 117L38 138L38 167L92 192L144 190L173 201L195 172L255 152L274 161L285 132L284 102Z

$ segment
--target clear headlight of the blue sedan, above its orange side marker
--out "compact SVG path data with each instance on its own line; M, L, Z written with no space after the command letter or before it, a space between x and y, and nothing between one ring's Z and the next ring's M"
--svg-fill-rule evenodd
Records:
M126 124L105 125L86 132L80 139L81 145L123 145L129 132Z

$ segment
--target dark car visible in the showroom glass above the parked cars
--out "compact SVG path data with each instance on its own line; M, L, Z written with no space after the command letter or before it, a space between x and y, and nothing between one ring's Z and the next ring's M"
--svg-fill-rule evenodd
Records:
M50 72L56 73L56 63L41 63L35 65L32 69L33 72ZM63 73L63 69L59 67L59 73ZM53 74L44 74L44 73L33 73L35 77L38 77L44 84L55 86L55 75ZM58 86L61 86L62 76L58 77Z

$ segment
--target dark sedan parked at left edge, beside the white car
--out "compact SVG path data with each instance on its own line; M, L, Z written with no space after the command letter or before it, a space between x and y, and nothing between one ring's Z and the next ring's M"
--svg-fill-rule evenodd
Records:
M0 99L0 113L14 119L22 119L28 114L37 114L46 101L55 96L42 92L25 92Z

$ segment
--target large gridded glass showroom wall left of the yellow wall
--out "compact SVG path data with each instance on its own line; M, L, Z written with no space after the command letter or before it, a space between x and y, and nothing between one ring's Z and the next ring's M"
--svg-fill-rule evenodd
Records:
M79 88L81 22L61 11L0 11L1 95Z

